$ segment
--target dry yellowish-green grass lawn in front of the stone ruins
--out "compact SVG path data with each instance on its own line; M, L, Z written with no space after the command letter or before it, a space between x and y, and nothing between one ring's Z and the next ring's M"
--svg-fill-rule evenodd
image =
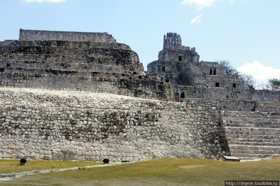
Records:
M40 162L43 160L34 161ZM59 168L64 168L63 163L69 165L68 161L47 162L62 162L60 165L62 167ZM80 166L75 165L75 163L92 164L92 162L74 161L72 164L74 167ZM32 164L28 164L26 167L35 166L35 162ZM14 169L21 167L15 165L7 166L11 166ZM2 165L0 169L3 172ZM23 176L8 181L0 181L0 185L216 186L224 185L225 180L279 180L279 178L280 156L274 157L272 160L248 162L167 158L108 167L94 167Z

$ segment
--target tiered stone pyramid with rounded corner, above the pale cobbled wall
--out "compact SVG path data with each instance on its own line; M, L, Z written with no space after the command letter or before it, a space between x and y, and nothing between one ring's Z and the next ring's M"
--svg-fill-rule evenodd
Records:
M0 42L3 87L105 92L170 100L169 86L145 76L136 52L108 33L20 30Z

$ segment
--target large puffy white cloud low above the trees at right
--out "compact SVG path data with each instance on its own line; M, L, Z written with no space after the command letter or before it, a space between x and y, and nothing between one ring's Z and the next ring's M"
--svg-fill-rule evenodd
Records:
M243 72L245 74L252 75L258 84L266 83L268 78L280 79L280 69L273 67L266 67L262 65L259 61L254 61L253 63L246 63L236 70Z

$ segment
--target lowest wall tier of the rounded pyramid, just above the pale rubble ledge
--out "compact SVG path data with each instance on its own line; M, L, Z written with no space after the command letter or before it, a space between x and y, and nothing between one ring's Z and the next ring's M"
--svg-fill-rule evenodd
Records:
M24 71L22 71L24 72ZM67 72L67 71L66 71ZM75 76L75 72L57 71L56 74L0 72L1 87L38 88L86 92L104 92L145 99L170 100L170 87L160 78L127 74L96 73L97 77ZM61 75L61 74L62 75Z

